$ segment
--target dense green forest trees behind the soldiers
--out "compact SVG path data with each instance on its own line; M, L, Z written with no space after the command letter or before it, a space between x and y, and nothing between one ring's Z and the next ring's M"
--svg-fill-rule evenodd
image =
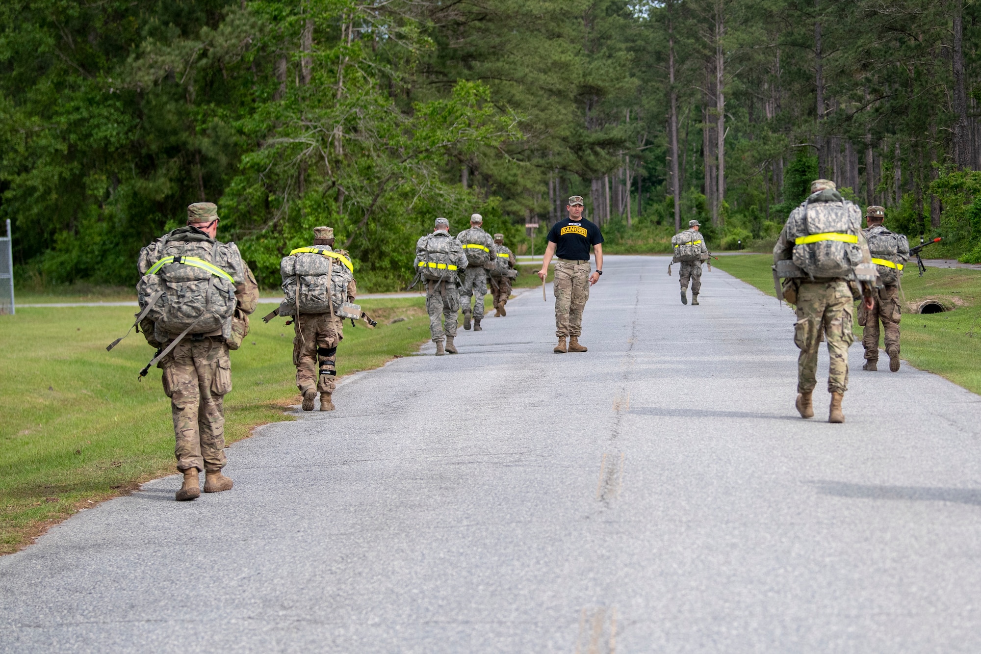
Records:
M131 283L138 248L212 200L267 286L329 224L362 286L394 289L436 216L479 211L521 252L572 192L611 250L662 248L673 125L679 222L716 244L772 239L821 176L981 258L979 19L962 0L12 0L0 217L42 286Z

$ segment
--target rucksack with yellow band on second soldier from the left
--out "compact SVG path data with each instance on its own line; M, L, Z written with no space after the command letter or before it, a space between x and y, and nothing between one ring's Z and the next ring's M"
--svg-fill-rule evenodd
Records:
M283 294L279 315L330 313L340 315L347 285L354 279L351 260L327 245L298 247L280 262Z

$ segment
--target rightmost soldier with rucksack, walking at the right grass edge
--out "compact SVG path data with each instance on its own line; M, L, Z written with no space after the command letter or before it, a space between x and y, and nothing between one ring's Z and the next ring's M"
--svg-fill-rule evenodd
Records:
M900 369L900 279L903 267L909 260L909 242L902 234L890 232L882 226L886 210L881 206L870 206L865 211L866 228L862 230L872 263L879 271L882 287L872 295L872 308L866 311L858 307L858 324L862 326L862 346L865 348L865 365L862 370L877 370L879 362L879 321L886 332L886 354L889 354L889 369Z

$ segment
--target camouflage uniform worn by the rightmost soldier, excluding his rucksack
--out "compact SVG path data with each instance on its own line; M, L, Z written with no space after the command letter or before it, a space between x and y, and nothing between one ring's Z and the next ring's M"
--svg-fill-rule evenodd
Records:
M879 214L885 213L882 207L868 208L869 211L878 210L876 213ZM880 320L883 331L886 333L886 353L891 356L895 354L897 357L900 355L900 316L902 309L899 300L899 279L903 276L903 266L909 260L909 244L903 235L894 235L881 224L863 230L863 234L869 243L873 257L872 262L877 264L880 277L884 281L887 279L896 280L895 283L883 284L882 288L876 290L876 293L872 295L875 306L871 311L866 311L864 306L858 307L858 324L863 328L861 342L865 348L865 359L870 363L876 363L879 360ZM876 251L874 244L882 237L895 237L899 251L896 253ZM893 263L897 268L880 264L877 259Z

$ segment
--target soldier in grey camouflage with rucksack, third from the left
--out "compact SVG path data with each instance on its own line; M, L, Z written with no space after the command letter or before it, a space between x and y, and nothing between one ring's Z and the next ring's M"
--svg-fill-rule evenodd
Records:
M456 290L457 274L467 270L467 255L463 247L449 236L449 221L437 218L433 234L416 242L416 274L426 283L426 311L430 316L430 335L436 344L437 356L456 354L456 312L460 296ZM484 296L480 297L481 308ZM445 327L439 317L445 319ZM443 343L445 342L445 347Z

